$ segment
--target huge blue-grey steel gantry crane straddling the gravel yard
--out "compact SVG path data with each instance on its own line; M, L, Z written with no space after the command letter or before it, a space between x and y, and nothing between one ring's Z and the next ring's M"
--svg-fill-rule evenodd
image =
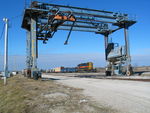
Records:
M111 11L87 9L73 6L56 5L31 2L25 9L22 28L27 30L27 69L31 71L31 77L37 78L38 41L46 42L54 36L57 30L68 30L68 37L64 44L68 43L71 31L94 32L104 36L107 75L114 73L116 64L127 64L126 72L129 74L130 51L128 28L136 21L129 18L128 14ZM125 54L115 56L114 43L109 43L109 35L124 29ZM121 51L119 49L119 51ZM110 73L108 73L110 72ZM28 73L29 74L29 73Z

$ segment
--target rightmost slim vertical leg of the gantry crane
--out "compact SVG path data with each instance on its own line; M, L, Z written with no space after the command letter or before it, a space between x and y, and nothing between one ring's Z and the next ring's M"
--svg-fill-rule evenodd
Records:
M125 36L125 49L126 49L126 65L127 65L127 75L131 75L130 67L131 67L131 57L130 57L130 43L129 43L129 34L128 34L128 26L124 27L124 36Z

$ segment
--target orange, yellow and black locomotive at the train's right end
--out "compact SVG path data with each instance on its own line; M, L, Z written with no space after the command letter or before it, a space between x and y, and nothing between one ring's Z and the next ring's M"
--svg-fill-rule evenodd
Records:
M77 66L78 72L95 72L92 62L81 63Z

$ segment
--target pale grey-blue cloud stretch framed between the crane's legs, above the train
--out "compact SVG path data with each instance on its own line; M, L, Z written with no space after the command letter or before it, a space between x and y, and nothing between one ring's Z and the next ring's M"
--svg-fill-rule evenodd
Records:
M38 65L41 68L54 68L59 66L75 67L82 62L93 62L95 66L104 66L104 55L91 54L49 54L40 55Z

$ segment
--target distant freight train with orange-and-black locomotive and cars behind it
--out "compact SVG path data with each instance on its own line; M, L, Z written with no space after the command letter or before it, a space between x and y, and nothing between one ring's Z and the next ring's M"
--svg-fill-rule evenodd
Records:
M77 67L57 67L51 69L49 72L55 73L75 73L75 72L96 72L92 62L78 64Z

